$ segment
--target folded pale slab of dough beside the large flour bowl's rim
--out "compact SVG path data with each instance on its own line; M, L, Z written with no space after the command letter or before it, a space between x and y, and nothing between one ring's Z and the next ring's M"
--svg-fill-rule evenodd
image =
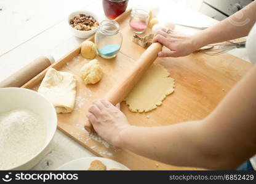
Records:
M38 93L52 102L57 113L69 113L74 109L76 79L73 74L50 68L39 86Z

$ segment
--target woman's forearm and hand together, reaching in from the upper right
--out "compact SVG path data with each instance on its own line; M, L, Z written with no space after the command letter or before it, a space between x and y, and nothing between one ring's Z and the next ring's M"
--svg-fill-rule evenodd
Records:
M256 21L255 14L256 1L216 25L192 36L182 35L173 30L168 33L165 29L159 30L153 42L159 42L169 48L169 51L159 52L159 57L187 56L205 45L247 36Z

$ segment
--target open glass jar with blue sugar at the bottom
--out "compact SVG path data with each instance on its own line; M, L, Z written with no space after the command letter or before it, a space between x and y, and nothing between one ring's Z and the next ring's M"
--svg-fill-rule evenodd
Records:
M117 21L103 20L95 34L98 55L102 58L114 58L122 45L122 33Z

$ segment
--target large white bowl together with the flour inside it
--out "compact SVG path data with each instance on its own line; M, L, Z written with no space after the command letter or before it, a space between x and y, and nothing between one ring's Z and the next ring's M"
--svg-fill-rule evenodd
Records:
M0 170L26 170L37 164L57 128L54 106L23 88L0 89Z

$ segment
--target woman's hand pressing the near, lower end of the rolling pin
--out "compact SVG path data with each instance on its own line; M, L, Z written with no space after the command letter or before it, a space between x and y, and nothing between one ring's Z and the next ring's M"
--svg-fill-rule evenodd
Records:
M130 127L120 104L115 107L106 99L94 101L86 116L100 137L116 147L120 146L120 133Z

